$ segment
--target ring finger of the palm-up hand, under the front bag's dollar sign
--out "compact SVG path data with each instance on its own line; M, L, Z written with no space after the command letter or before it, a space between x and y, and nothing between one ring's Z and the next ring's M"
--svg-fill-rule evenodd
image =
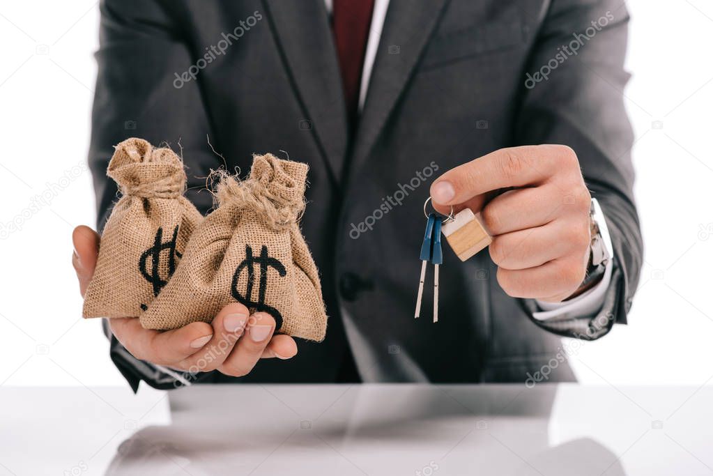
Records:
M272 319L270 314L264 312L253 314L247 324L245 335L235 344L230 356L218 370L235 377L250 373L265 352L274 331L275 319Z

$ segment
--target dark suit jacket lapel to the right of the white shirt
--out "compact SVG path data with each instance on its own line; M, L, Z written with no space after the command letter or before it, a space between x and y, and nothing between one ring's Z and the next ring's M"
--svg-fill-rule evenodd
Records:
M381 41L369 81L364 110L359 119L350 169L356 170L368 157L384 128L396 100L411 78L443 6L448 0L391 0ZM389 47L391 53L389 53ZM394 51L398 48L398 53Z

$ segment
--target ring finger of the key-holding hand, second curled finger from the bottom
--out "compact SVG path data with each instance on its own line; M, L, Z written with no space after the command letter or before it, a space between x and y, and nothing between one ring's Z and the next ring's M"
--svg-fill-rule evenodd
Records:
M558 219L542 227L497 235L488 251L498 267L528 269L570 253L580 256L588 250L589 234L585 222Z

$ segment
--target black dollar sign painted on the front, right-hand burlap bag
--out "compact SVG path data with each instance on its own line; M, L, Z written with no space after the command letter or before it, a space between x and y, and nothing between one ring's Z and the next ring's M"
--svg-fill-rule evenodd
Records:
M252 289L255 287L255 264L260 265L260 285L257 289L257 301L252 301ZM260 257L252 256L252 248L249 244L245 245L245 259L235 269L235 274L232 275L232 286L230 286L230 294L236 301L245 304L248 308L255 309L257 312L267 312L275 318L277 323L276 329L282 325L282 314L272 306L265 304L265 291L267 290L267 269L273 268L279 276L284 276L287 271L284 269L279 260L268 256L267 247L263 244L260 249ZM240 273L243 269L247 269L247 289L245 296L237 290L237 280L240 278Z

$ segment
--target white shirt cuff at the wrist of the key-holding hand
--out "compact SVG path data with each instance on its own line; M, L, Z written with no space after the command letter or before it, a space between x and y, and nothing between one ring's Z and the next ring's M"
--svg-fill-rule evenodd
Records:
M604 219L602 209L596 199L592 199L592 202L594 207L594 219L597 222L597 225L599 225L599 231L602 234L602 241L604 242L605 247L607 247L607 252L610 257L606 264L604 276L602 276L602 280L599 281L599 283L592 289L588 289L569 301L543 302L536 300L538 308L540 308L541 311L533 313L533 317L538 319L538 321L547 321L548 319L553 319L555 317L561 318L563 316L566 316L569 319L591 316L599 312L604 305L604 297L612 281L612 261L614 251L612 248L612 239L609 235L609 228L607 227L607 222Z

